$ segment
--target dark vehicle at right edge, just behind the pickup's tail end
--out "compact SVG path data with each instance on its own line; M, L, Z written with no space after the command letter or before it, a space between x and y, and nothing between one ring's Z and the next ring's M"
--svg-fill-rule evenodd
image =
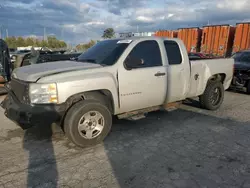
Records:
M246 92L250 94L250 50L236 52L233 58L235 63L231 88L246 88Z

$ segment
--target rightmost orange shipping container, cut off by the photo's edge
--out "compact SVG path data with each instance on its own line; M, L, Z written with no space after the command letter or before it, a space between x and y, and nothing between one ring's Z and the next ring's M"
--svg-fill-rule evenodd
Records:
M233 52L250 49L250 23L236 24Z

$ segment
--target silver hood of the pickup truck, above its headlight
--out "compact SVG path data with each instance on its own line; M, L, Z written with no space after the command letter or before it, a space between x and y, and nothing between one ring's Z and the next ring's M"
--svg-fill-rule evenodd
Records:
M55 61L17 68L13 71L12 76L19 80L36 82L44 76L95 67L101 67L101 65L77 61Z

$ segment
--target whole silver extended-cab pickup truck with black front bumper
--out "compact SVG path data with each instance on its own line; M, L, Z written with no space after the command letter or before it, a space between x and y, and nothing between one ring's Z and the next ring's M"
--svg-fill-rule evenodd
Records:
M192 97L216 110L233 59L190 61L181 40L157 37L98 42L75 61L17 68L1 106L23 129L60 122L76 145L100 143L112 116L137 120Z

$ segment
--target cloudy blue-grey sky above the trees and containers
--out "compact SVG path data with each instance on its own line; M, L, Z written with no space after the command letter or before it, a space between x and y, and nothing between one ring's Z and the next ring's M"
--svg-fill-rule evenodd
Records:
M116 32L250 21L250 0L0 0L2 33L55 35L68 43Z

